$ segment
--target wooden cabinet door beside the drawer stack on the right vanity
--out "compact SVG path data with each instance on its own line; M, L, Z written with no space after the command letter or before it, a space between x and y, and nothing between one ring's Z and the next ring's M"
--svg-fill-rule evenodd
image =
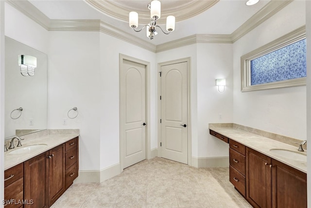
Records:
M246 148L246 199L258 208L271 208L271 158Z

